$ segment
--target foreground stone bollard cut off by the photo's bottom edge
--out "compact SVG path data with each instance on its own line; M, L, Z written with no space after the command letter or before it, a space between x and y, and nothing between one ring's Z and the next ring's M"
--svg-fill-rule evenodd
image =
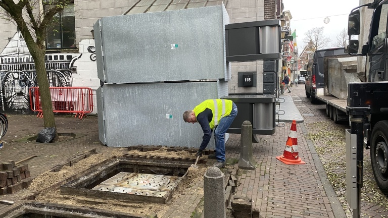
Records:
M224 174L209 167L204 175L204 218L226 217Z

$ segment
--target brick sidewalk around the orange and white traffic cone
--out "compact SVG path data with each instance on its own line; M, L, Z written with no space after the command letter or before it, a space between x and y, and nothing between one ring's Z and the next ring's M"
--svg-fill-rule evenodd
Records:
M301 127L302 126L302 127ZM257 168L243 171L236 195L252 197L253 207L262 217L345 217L335 214L320 181L311 150L302 137L302 124L297 124L298 150L305 165L285 165L275 157L283 153L290 123L277 127L271 136L261 136L254 143L253 154ZM228 144L228 156L236 156L239 135ZM313 151L315 152L315 151Z

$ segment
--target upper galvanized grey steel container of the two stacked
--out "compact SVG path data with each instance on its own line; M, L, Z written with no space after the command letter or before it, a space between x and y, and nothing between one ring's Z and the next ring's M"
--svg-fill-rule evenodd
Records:
M223 5L102 18L105 82L225 78L226 18Z

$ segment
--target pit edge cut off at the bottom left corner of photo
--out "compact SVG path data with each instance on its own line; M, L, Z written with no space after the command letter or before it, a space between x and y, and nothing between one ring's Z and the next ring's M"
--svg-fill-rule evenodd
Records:
M123 212L112 212L102 209L86 209L82 207L63 205L63 204L47 204L39 202L24 202L14 206L6 213L0 214L0 217L5 218L65 218L65 217L115 217L115 218L144 218L146 215L128 214Z

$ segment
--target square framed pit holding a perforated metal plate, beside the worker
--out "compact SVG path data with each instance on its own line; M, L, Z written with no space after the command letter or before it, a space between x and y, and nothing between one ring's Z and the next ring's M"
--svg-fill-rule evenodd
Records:
M108 159L62 185L62 195L166 203L187 176L191 162Z

